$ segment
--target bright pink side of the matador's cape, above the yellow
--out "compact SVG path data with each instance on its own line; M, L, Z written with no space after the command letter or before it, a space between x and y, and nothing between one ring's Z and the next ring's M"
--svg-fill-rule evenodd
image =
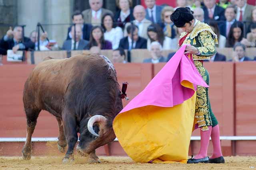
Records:
M131 100L120 113L143 106L173 107L182 104L194 95L196 85L208 87L196 69L192 57L184 55L183 45L165 64L148 86ZM191 82L194 89L181 85L182 81Z

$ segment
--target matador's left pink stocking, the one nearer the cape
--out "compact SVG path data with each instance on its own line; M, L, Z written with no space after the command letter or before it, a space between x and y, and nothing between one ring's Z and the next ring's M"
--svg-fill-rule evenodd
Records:
M209 141L210 141L210 135L212 132L212 127L208 126L208 131L202 131L200 128L200 136L201 136L201 141L200 141L200 151L199 153L194 157L194 159L200 159L204 158L207 156L207 150L209 146Z

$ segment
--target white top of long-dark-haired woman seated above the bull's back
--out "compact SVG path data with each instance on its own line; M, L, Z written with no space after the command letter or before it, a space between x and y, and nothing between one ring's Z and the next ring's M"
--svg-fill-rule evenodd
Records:
M120 27L112 28L111 31L106 31L104 33L104 39L112 43L112 49L118 48L120 39L122 39L122 37L124 37L124 34L122 28Z

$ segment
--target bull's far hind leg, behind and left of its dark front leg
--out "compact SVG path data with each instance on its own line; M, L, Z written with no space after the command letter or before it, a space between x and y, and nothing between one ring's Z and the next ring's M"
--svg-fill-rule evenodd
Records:
M62 119L60 117L56 117L56 119L58 121L58 127L59 127L58 150L64 153L65 147L67 146L67 141L64 134L64 127L63 127Z

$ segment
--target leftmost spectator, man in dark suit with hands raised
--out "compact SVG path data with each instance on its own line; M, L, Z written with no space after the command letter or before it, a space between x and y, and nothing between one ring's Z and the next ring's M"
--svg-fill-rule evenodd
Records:
M24 42L22 42L22 27L16 26L13 31L12 27L10 27L6 35L0 40L0 48L2 55L6 55L7 50L12 50L16 53L18 50L34 49L35 43L28 37L24 37Z

